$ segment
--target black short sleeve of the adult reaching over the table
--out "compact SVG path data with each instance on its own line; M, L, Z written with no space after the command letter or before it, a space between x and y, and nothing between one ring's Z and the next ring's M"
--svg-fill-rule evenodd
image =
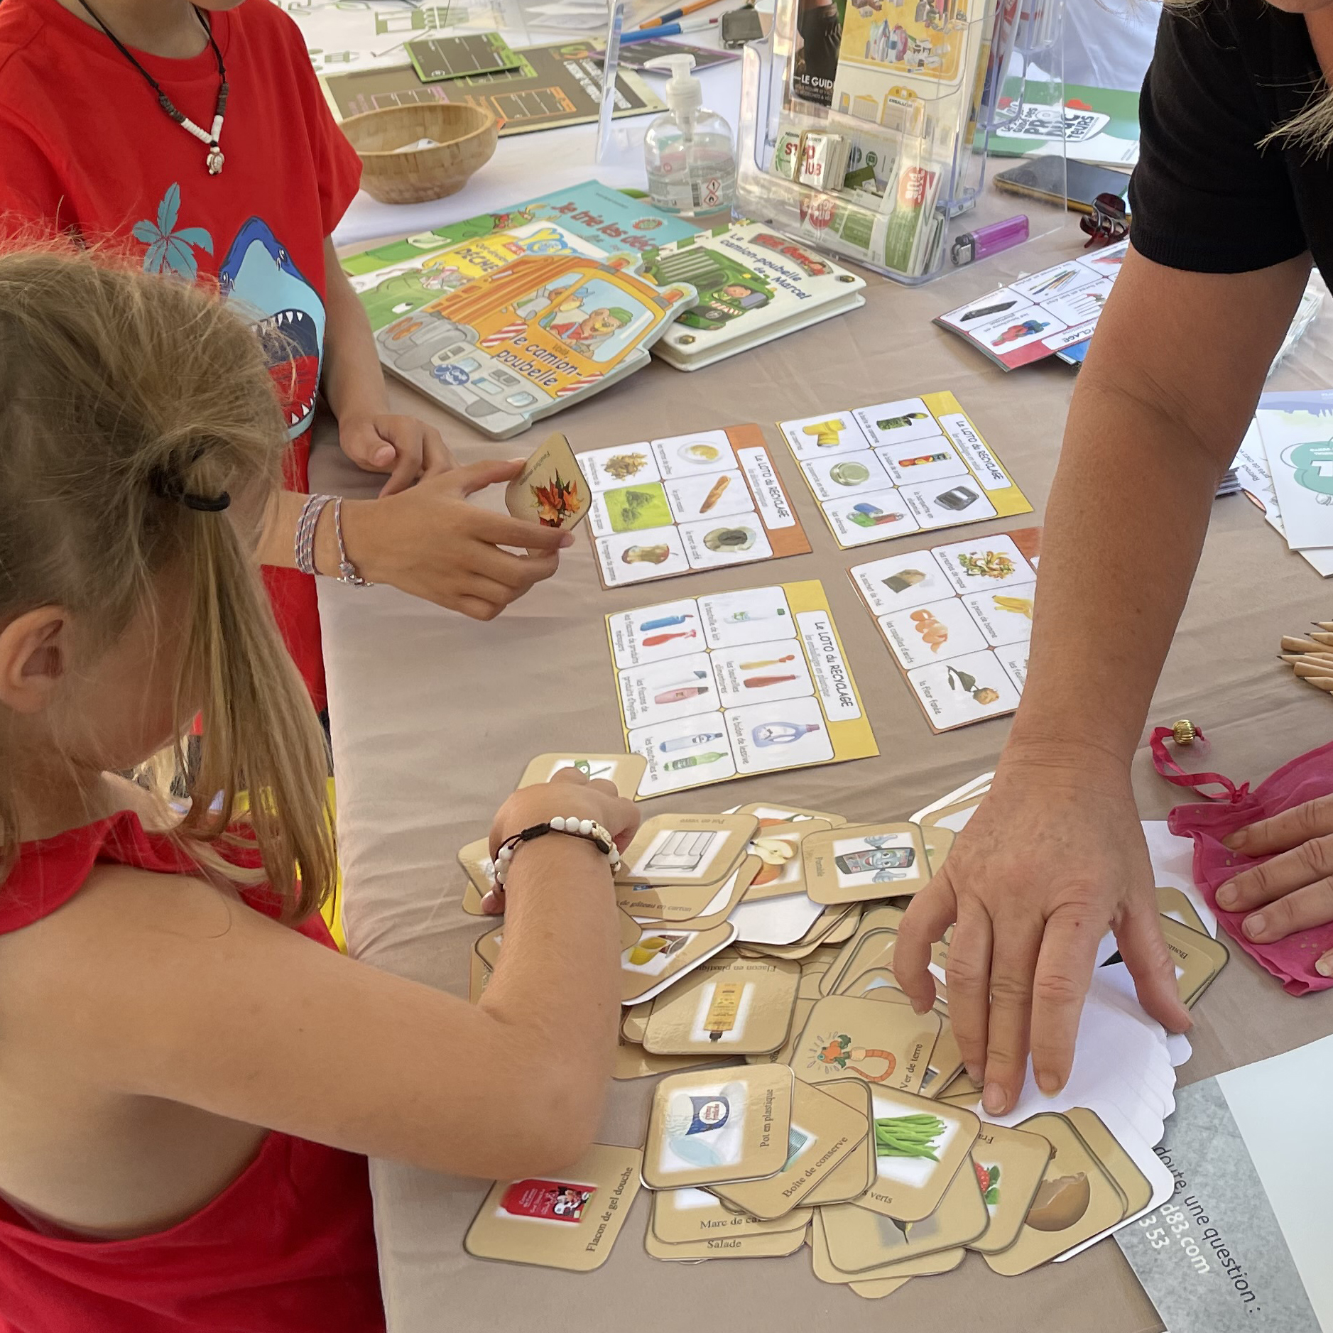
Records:
M1196 273L1246 273L1308 249L1333 283L1333 155L1260 147L1326 95L1301 15L1265 0L1168 7L1138 108L1134 249Z

